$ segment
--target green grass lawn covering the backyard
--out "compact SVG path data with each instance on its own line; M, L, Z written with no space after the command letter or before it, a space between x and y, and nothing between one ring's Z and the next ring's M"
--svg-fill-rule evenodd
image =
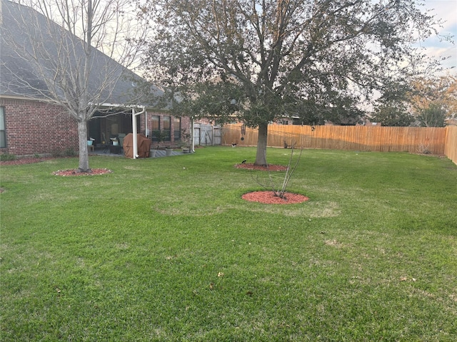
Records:
M456 165L305 150L288 190L310 200L272 205L241 199L268 182L243 159L2 166L0 340L457 340Z

